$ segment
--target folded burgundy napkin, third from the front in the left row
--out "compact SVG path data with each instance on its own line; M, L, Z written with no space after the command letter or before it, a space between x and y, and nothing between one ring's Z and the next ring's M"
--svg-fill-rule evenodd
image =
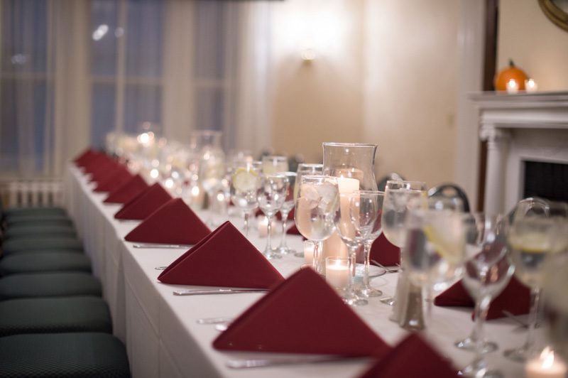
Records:
M226 221L166 268L164 284L272 288L283 276Z

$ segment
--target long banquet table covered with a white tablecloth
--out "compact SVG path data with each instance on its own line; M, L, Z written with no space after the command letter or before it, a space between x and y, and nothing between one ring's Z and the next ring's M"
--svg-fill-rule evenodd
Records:
M84 240L94 274L102 281L114 335L126 344L133 377L357 377L372 364L372 360L349 360L241 370L226 367L229 359L258 359L272 354L215 350L212 341L219 331L214 325L200 325L196 320L235 318L264 294L173 296L175 289L192 286L162 284L157 280L160 270L155 268L167 266L187 248L134 248L133 243L124 241L124 236L139 222L114 219L114 213L121 206L103 203L107 194L94 193L92 189L93 184L88 182L88 178L70 165L65 177L67 210ZM197 214L202 219L215 217L201 210ZM217 216L216 220L220 223L223 219ZM229 220L242 228L238 215L229 217ZM257 232L251 232L249 239L260 250L266 244L266 238L258 237ZM302 249L299 236L288 235L288 244ZM271 262L284 277L288 277L300 269L304 261L286 255ZM397 274L384 274L373 278L371 284L386 295L392 295L396 279ZM317 298L314 302L317 303ZM298 308L297 311L302 310ZM391 345L408 334L388 319L392 308L378 298L371 298L368 306L355 307L354 311ZM472 352L454 347L456 340L471 331L471 311L469 308L432 306L431 315L427 315L427 330L423 334L457 368L464 367L474 357ZM317 327L317 324L312 326ZM349 324L339 326L349 327ZM544 331L537 331L537 337L543 338ZM486 335L499 345L496 352L487 356L491 367L501 369L505 377L523 376L523 364L507 360L503 357L503 350L521 345L525 340L525 330L512 320L501 318L486 323Z

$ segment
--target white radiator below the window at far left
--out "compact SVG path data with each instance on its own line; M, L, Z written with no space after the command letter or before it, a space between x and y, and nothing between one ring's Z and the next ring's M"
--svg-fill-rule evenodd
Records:
M60 206L63 184L54 180L18 180L4 185L8 207ZM6 193L7 192L7 193Z

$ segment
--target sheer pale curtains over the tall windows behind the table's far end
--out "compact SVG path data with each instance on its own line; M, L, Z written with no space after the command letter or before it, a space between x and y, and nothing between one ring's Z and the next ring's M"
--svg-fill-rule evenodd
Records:
M266 1L1 0L0 173L60 178L142 121L189 141L269 147Z

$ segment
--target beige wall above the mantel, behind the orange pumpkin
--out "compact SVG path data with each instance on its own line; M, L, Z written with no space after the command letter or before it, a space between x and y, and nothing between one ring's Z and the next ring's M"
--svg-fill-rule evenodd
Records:
M512 58L539 90L568 90L568 32L536 0L501 0L499 16L498 68Z

